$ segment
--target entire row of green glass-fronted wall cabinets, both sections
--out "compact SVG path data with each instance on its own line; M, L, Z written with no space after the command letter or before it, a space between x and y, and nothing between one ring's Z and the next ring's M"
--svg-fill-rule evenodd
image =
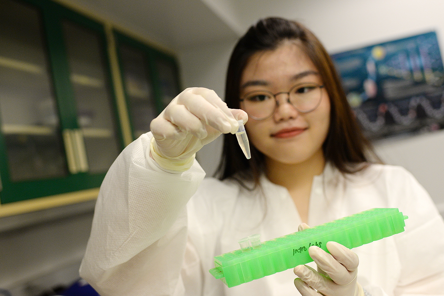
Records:
M112 26L50 0L1 6L0 216L5 205L98 188L180 91L173 55Z

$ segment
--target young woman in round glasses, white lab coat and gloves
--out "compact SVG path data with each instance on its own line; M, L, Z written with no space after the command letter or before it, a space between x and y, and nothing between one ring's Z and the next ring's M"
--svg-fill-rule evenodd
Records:
M233 135L238 119L250 160ZM221 180L204 178L194 154L222 133ZM242 237L266 241L376 207L408 215L405 231L353 251L310 247L307 266L232 288L208 272ZM116 159L80 275L102 296L443 295L444 223L411 174L379 163L317 38L269 18L234 48L226 103L186 89Z

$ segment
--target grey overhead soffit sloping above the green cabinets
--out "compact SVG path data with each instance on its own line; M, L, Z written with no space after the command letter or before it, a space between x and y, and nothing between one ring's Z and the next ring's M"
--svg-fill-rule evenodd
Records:
M67 0L137 35L177 51L238 38L201 0Z

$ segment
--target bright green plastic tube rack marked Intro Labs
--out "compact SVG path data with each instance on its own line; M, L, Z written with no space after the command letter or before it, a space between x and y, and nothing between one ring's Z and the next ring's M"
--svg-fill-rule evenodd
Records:
M396 208L375 208L262 242L258 248L238 249L214 257L210 273L228 287L256 280L311 261L308 248L327 251L328 241L352 249L404 231L403 216ZM328 251L327 251L328 252Z

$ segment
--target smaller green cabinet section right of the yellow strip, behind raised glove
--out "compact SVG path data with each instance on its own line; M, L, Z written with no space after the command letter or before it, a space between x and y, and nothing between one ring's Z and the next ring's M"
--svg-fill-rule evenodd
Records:
M150 130L150 122L179 94L173 56L114 31L133 139Z

